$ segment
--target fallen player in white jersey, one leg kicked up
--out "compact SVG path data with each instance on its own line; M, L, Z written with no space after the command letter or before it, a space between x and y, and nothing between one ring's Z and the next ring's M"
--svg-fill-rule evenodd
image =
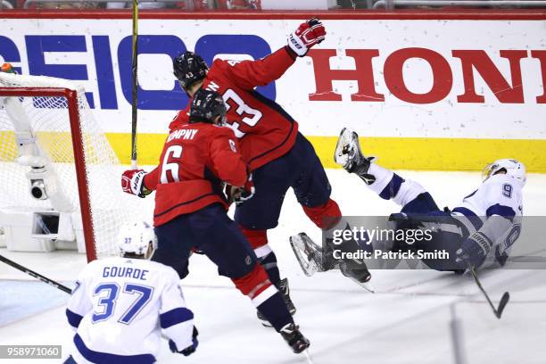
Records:
M335 161L344 170L359 176L379 197L401 205L401 213L391 215L391 219L398 221L397 228L419 228L424 223L438 222L436 227L439 229L432 234L432 240L397 244L393 250L443 250L449 253L449 258L422 261L429 268L457 273L464 272L468 266L478 269L506 263L510 247L521 229L525 166L520 161L501 159L487 165L483 172L484 183L451 211L440 210L432 195L417 182L380 167L374 162L375 157L365 157L360 152L358 135L350 129L342 130ZM292 239L302 247L300 252L305 248L317 251L304 234ZM312 263L312 257L307 255ZM357 281L358 273L343 271Z

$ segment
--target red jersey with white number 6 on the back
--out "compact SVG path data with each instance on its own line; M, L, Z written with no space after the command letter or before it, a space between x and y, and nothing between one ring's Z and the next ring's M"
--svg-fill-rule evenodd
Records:
M170 130L160 161L145 178L145 186L156 186L156 227L211 203L227 208L222 181L243 186L247 178L233 131L208 123L183 124Z

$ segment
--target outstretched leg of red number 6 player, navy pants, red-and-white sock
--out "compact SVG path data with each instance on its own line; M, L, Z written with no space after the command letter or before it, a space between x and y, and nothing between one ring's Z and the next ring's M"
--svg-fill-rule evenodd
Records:
M265 269L258 263L252 248L236 223L219 205L211 205L192 214L192 236L200 236L196 247L203 251L230 277L237 289L247 295L257 310L293 348L302 352L309 341L294 325L283 296L272 285Z

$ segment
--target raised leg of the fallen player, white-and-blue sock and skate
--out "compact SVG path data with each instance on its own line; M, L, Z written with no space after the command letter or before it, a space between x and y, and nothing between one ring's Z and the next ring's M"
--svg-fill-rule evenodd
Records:
M439 211L434 198L418 182L401 178L392 170L377 165L375 160L360 151L357 133L343 128L335 148L335 162L344 170L359 176L379 197L401 205L402 212Z

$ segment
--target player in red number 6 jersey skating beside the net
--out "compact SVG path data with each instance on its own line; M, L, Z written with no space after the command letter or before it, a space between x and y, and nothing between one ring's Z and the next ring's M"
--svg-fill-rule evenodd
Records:
M243 233L227 217L223 182L231 186L230 197L236 202L250 199L254 187L233 130L221 126L225 119L221 96L200 89L194 94L189 120L171 128L153 181L153 224L159 240L153 260L185 277L190 252L203 252L221 275L230 277L249 296L292 350L302 352L309 341L294 325L283 297L271 285ZM124 172L124 191L144 195L144 176L144 170Z

